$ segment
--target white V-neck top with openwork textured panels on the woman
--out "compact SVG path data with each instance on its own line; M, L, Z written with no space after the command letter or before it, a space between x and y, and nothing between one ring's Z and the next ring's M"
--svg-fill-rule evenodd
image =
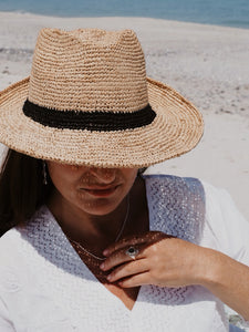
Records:
M145 176L151 230L249 266L249 224L225 190L194 178ZM229 331L224 304L199 286L141 287L132 311L82 262L43 206L0 239L0 331Z

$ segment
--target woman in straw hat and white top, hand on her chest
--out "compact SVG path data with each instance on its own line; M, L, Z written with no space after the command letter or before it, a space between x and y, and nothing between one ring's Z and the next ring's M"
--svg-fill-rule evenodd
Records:
M0 126L1 331L228 331L222 302L249 319L229 197L142 175L195 147L203 120L146 79L133 31L43 29Z

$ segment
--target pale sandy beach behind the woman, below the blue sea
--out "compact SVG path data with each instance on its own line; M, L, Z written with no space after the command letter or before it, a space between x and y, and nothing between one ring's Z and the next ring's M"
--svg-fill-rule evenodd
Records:
M65 19L0 12L0 90L29 75L43 27L135 30L147 74L179 91L205 118L198 147L165 162L164 168L228 189L249 220L249 30L144 18ZM155 166L159 169L162 165Z

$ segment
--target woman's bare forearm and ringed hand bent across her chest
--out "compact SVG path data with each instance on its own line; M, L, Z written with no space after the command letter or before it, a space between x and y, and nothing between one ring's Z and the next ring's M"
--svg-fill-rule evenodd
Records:
M125 253L131 246L139 250L135 260ZM200 284L249 320L249 267L219 251L149 231L143 237L126 238L104 253L107 259L101 268L114 268L111 282L124 288Z

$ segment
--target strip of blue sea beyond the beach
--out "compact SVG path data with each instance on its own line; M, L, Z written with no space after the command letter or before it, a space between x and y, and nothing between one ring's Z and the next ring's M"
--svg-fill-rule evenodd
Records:
M58 17L147 17L249 29L249 0L0 0L0 11Z

